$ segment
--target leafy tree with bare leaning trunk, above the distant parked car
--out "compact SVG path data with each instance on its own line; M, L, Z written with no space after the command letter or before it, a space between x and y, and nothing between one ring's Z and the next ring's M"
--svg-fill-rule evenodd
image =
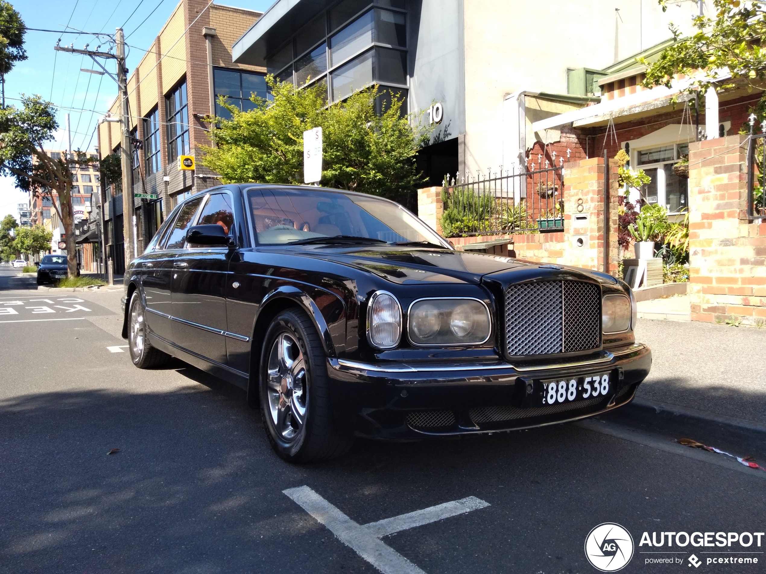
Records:
M51 198L66 233L68 274L76 277L70 166L90 160L79 150L72 158L51 158L44 145L54 139L57 129L53 105L40 96L23 97L21 108L0 109L0 175L15 178L16 187L32 197Z

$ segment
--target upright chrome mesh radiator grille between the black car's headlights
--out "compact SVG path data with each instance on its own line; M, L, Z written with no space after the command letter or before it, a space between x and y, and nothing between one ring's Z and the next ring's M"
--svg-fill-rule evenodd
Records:
M511 357L571 353L601 344L601 290L581 281L542 281L506 289L506 351Z

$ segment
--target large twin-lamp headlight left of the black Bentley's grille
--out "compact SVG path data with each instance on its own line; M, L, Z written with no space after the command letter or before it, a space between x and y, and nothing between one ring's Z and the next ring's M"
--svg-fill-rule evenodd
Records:
M482 344L491 325L489 309L478 299L419 299L408 312L408 334L415 345Z

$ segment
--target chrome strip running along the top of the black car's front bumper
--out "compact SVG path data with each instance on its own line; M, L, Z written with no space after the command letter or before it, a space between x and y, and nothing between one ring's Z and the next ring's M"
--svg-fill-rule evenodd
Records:
M358 360L348 359L335 359L328 358L328 362L333 369L344 370L368 370L373 373L434 373L434 372L449 372L449 371L465 371L465 370L509 370L516 373L531 373L539 370L555 370L555 369L567 369L570 367L588 367L590 365L599 365L604 363L611 363L615 357L619 358L625 354L630 354L635 351L640 351L645 345L637 343L628 347L625 351L620 351L617 354L604 351L602 357L591 360L570 361L568 363L554 363L545 365L535 365L534 367L515 367L509 363L492 363L492 364L452 364L452 365L434 365L433 367L412 367L408 364L374 364L374 363L362 363Z

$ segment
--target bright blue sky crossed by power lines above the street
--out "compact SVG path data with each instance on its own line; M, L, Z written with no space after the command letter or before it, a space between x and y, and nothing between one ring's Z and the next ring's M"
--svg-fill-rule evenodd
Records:
M15 9L21 14L28 28L45 28L61 31L87 31L114 34L115 28L123 27L128 47L127 67L133 70L143 52L159 33L162 24L178 5L177 0L16 0ZM273 0L223 0L226 5L265 11ZM153 11L153 13L152 13ZM151 15L149 15L152 13ZM65 28L69 26L69 28ZM96 65L89 57L54 51L56 41L61 45L74 43L82 48L97 49L100 41L91 34L52 34L28 31L25 47L28 60L16 64L5 79L7 104L18 104L21 94L40 94L59 108L59 123L64 127L64 116L70 114L72 147L93 150L97 145L94 135L97 122L117 94L117 86L108 76L80 72L80 68L93 69ZM101 50L106 50L105 43ZM102 60L103 62L103 60ZM114 71L114 64L106 69ZM90 144L90 145L89 145ZM57 141L51 147L65 148L66 135L61 129ZM26 194L15 190L9 178L0 178L0 218L5 214L16 215L16 204L27 201Z

